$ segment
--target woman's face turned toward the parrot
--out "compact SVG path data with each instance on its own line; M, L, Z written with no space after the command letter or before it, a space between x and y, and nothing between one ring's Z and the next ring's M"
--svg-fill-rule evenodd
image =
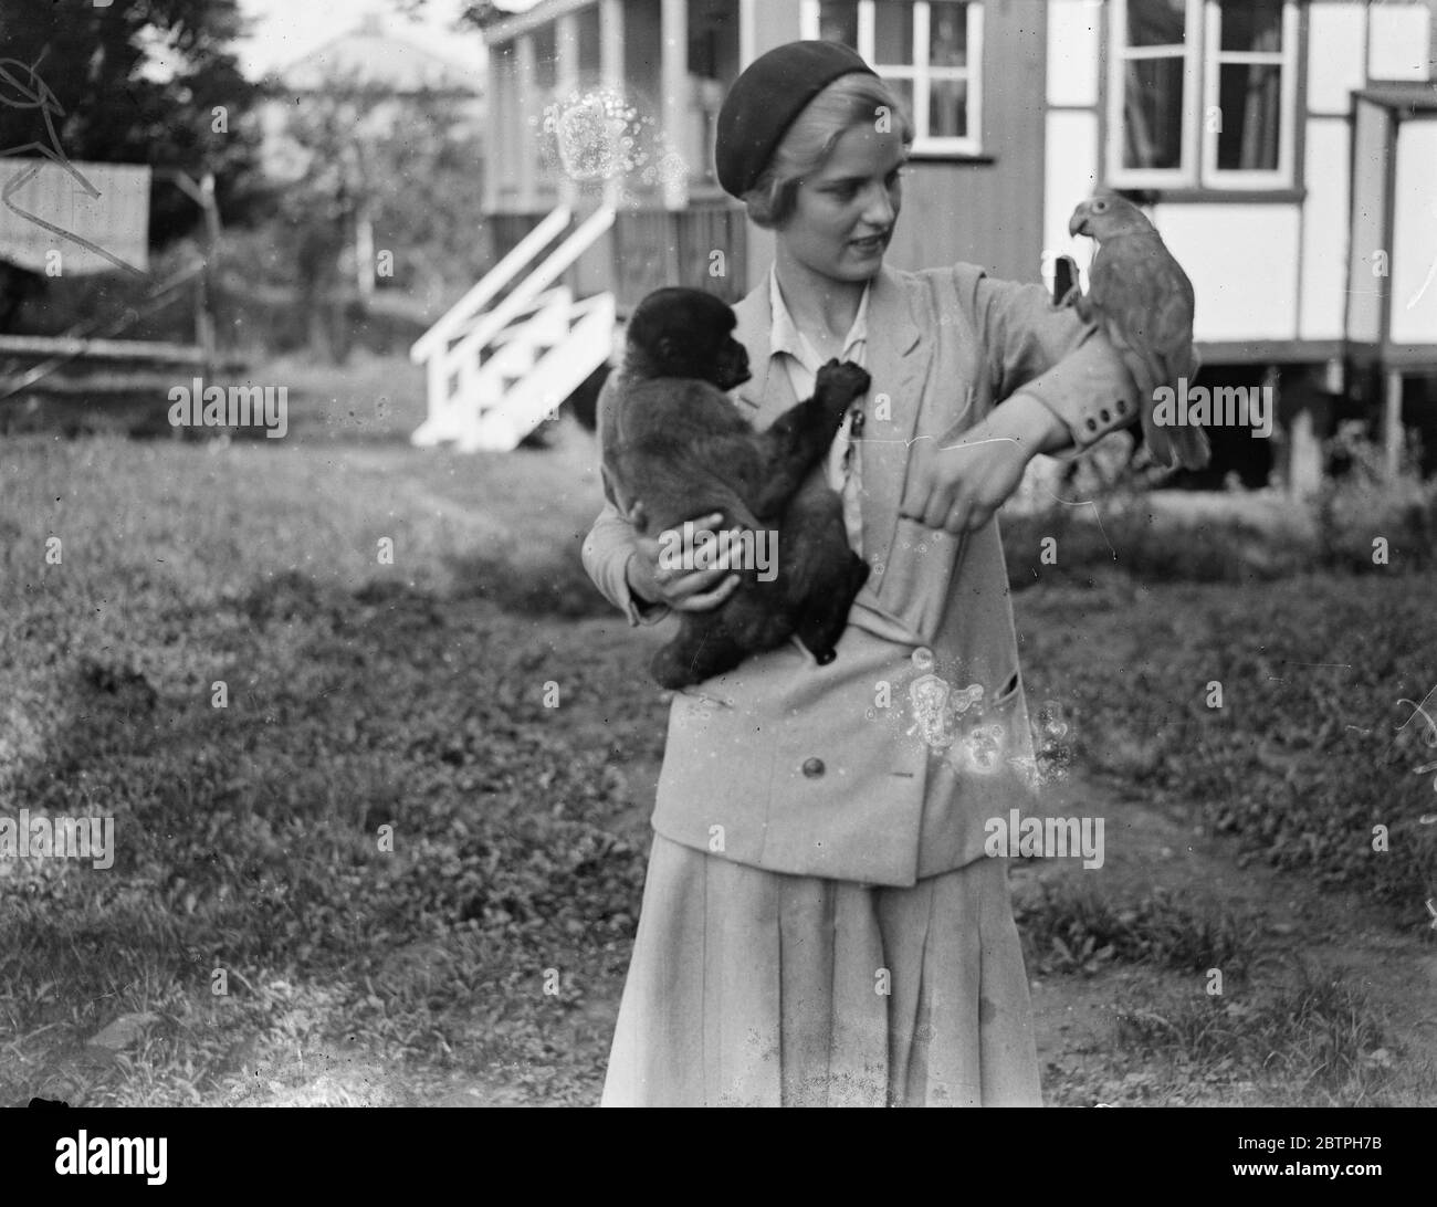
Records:
M805 267L833 280L868 280L884 260L902 207L908 152L897 134L844 131L828 162L799 184L779 239Z

